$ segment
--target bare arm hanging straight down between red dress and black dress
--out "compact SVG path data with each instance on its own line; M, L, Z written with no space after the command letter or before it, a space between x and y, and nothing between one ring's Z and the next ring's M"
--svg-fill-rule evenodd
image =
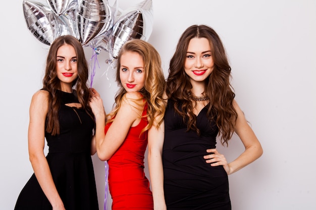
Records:
M157 128L155 123L148 130L148 167L152 188L153 208L167 209L164 195L163 145L165 122Z

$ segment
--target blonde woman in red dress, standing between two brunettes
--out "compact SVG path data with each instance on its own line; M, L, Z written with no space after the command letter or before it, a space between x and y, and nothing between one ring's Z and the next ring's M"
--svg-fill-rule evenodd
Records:
M163 170L157 168L162 167L163 147L158 138L164 138L157 133L164 129L160 125L165 113L165 78L159 53L145 41L126 42L118 56L116 78L120 90L110 114L106 115L94 89L90 99L97 154L109 163L112 209L153 209L154 205L155 209L166 209ZM147 142L152 192L144 173Z

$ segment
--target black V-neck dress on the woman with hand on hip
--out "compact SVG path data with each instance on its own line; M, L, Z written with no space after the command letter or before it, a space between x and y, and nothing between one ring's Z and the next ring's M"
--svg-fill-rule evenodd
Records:
M181 106L178 107L181 109ZM230 210L228 176L223 166L212 167L203 159L216 148L218 127L206 118L204 107L196 117L201 132L186 131L187 124L169 100L165 113L163 147L164 191L168 210Z

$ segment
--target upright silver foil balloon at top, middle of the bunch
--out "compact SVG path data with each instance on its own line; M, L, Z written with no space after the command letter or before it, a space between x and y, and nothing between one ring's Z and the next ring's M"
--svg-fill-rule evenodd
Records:
M77 26L81 43L88 43L112 27L112 16L108 1L80 0L77 8Z

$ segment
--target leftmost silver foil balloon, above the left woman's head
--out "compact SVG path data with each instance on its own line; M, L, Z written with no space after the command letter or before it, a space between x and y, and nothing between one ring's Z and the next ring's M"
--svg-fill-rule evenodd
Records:
M23 1L26 25L42 43L50 45L58 36L58 21L55 13L40 3Z

